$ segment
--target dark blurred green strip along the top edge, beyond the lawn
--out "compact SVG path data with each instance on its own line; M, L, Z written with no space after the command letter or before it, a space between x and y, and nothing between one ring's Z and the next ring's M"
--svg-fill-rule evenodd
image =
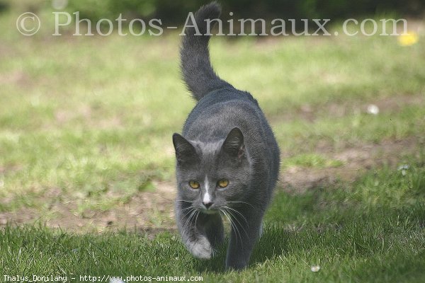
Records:
M209 1L188 0L0 0L0 11L21 8L40 11L55 6L66 11L80 11L81 16L97 21L116 18L161 18L165 24L181 24L188 11L196 11ZM398 13L401 16L423 16L425 2L421 0L229 0L222 1L223 15L237 13L244 18L330 18L371 16L381 13Z

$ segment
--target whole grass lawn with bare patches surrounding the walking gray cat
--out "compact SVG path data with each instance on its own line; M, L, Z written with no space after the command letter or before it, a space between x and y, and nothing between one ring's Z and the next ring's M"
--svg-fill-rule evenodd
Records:
M236 273L225 247L196 260L174 229L171 134L193 107L179 36L23 37L16 18L0 15L0 281L425 281L423 36L213 38L217 73L259 100L282 151Z

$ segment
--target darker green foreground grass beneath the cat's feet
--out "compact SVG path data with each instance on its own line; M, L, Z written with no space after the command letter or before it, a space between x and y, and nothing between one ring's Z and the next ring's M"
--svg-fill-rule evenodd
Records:
M405 175L384 168L353 185L279 192L243 272L225 272L225 250L209 261L173 233L153 240L121 231L76 235L42 226L1 231L3 275L202 276L205 282L423 282L424 156ZM310 267L319 265L319 272Z

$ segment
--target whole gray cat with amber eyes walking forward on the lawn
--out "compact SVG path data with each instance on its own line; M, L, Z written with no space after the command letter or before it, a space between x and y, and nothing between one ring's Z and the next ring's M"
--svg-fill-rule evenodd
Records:
M222 81L211 67L205 19L218 16L217 3L201 7L195 21L202 35L186 26L183 37L181 71L198 103L183 134L173 135L176 222L192 255L209 259L224 241L222 220L228 219L226 267L240 270L261 236L278 178L279 149L257 101Z

